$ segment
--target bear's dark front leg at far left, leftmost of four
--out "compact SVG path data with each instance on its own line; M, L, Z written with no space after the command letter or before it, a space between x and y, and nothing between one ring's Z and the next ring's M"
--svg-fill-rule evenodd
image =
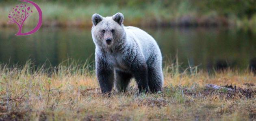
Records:
M108 65L104 59L96 57L96 76L103 94L110 94L114 83L113 67Z

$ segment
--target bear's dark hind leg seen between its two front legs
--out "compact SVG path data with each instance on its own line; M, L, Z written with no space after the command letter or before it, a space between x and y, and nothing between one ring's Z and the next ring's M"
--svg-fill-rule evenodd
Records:
M118 92L126 92L127 87L130 83L132 74L124 71L115 70L115 87Z

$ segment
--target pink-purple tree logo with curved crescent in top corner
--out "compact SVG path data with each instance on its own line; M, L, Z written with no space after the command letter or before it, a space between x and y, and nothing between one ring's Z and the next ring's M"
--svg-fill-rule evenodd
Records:
M9 18L8 23L15 23L18 25L19 31L15 35L30 35L32 33L35 33L38 29L40 29L42 25L42 10L35 2L32 2L30 0L20 0L20 1L28 2L33 6L35 6L39 14L39 21L37 23L37 26L33 30L27 33L22 33L22 27L24 25L24 22L28 19L30 14L33 13L33 10L31 10L30 6L27 6L26 4L20 4L13 7L13 10L10 11L8 14L8 18Z

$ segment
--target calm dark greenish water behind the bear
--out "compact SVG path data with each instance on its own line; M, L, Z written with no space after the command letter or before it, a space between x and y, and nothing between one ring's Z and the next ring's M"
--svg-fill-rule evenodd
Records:
M145 29L158 42L164 60L178 54L183 67L246 68L256 57L256 34L228 28ZM67 58L93 61L91 29L41 28L28 36L15 36L15 28L0 28L0 62L56 66Z

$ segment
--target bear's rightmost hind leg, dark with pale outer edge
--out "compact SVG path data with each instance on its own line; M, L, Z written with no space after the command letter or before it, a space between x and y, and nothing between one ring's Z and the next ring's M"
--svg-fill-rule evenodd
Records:
M153 93L162 91L163 71L161 63L153 62L151 65L148 65L148 86Z

